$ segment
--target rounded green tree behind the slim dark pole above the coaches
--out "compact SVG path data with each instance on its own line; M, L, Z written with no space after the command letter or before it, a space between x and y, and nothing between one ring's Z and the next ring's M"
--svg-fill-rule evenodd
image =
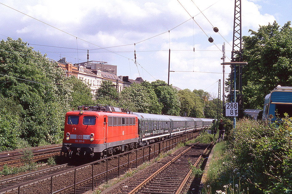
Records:
M160 80L156 80L151 84L157 98L163 104L162 114L178 116L180 114L180 101L177 90L172 85L168 86L166 82Z

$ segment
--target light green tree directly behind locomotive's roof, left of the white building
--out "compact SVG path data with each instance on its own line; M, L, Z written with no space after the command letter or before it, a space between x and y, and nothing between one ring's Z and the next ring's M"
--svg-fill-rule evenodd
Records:
M72 89L70 107L78 107L82 104L95 104L95 101L92 99L91 89L85 83L75 76L68 77L67 82L69 88Z

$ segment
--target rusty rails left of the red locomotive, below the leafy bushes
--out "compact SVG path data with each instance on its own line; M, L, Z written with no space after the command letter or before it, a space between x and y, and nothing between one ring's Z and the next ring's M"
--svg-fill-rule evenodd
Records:
M1 152L0 153L0 169L3 168L4 165L8 167L17 167L22 166L24 163L22 162L22 156L26 153L26 151L31 151L33 154L33 161L39 161L51 156L55 156L60 154L62 148L62 144L54 144L47 146L34 147L30 149L21 149L14 150L10 152Z

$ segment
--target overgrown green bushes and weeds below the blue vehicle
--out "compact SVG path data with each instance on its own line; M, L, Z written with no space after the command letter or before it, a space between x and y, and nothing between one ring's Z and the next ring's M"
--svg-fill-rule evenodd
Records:
M228 139L216 144L204 193L292 193L292 118L242 119Z

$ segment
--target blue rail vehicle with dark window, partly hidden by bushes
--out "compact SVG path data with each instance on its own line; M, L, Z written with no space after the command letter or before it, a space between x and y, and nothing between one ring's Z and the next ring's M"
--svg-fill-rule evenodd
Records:
M262 119L274 122L284 113L292 116L292 87L277 86L265 97Z

